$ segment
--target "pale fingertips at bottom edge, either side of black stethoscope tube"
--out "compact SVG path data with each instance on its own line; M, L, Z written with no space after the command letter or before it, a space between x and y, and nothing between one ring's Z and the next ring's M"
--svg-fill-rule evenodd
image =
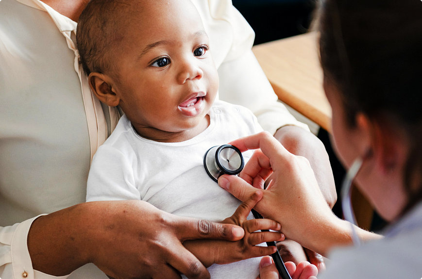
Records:
M292 262L285 263L288 274L292 279L317 279L318 269L308 262L301 262L297 266ZM271 257L261 259L259 265L259 277L257 279L279 279L277 268Z

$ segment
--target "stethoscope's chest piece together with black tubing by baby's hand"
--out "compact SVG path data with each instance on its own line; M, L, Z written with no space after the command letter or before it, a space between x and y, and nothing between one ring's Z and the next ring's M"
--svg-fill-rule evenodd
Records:
M244 164L245 161L243 160L242 152L240 152L240 150L235 146L228 144L209 148L203 156L203 165L205 167L205 171L209 177L216 182L218 182L219 177L223 174L239 174L242 171ZM255 210L252 210L252 214L255 219L264 218ZM276 246L274 241L267 242L267 245ZM271 254L271 257L274 260L280 277L282 279L291 279L278 250Z

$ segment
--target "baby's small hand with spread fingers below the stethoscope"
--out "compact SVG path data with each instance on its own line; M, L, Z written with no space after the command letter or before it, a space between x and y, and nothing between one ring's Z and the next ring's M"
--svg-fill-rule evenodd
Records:
M277 231L259 230L280 230L281 225L270 219L252 219L247 217L255 204L262 198L262 192L256 192L251 198L244 201L236 212L222 223L235 224L245 230L245 236L236 242L221 242L215 250L215 263L233 263L254 257L266 256L276 251L275 246L256 246L263 242L284 240L284 235Z

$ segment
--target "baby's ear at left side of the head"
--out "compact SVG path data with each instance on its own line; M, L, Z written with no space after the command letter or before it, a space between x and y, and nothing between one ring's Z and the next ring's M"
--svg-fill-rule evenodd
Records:
M92 92L94 92L95 96L97 96L101 102L111 107L118 106L120 98L113 92L111 79L107 75L92 72L88 76L88 83Z

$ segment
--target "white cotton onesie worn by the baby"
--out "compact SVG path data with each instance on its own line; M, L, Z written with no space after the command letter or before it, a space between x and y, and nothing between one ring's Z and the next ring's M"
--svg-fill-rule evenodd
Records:
M86 200L140 199L169 213L211 221L231 216L240 202L207 175L203 156L213 146L262 129L248 109L223 101L216 101L209 116L205 131L178 143L142 138L122 116L94 156ZM245 161L251 155L243 153ZM214 264L208 270L211 278L255 279L259 261Z

